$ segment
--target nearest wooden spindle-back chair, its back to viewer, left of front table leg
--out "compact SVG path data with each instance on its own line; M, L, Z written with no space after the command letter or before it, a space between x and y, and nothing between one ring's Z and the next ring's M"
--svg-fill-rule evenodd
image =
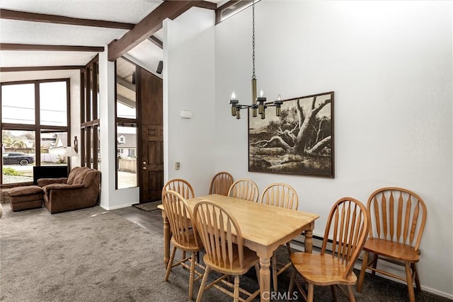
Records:
M207 200L197 202L193 216L206 250L203 257L205 275L198 291L197 302L201 301L205 289L212 286L233 297L234 301L252 301L260 294L260 289L253 293L241 289L239 277L254 266L259 284L259 258L256 252L243 246L241 228L236 219L219 205ZM222 277L207 284L210 270L221 273ZM234 276L234 284L226 279L229 276ZM233 293L229 289L233 289ZM240 294L248 298L243 299Z

